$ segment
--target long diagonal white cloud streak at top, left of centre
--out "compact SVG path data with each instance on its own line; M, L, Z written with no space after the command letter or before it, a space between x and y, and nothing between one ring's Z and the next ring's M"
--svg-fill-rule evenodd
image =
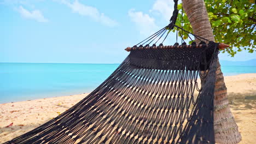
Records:
M68 7L71 8L74 13L91 17L95 21L101 22L106 26L114 27L118 25L118 22L110 19L103 13L100 13L97 8L79 3L78 0L75 0L73 3L69 3L67 0L60 0L59 2L68 5Z

